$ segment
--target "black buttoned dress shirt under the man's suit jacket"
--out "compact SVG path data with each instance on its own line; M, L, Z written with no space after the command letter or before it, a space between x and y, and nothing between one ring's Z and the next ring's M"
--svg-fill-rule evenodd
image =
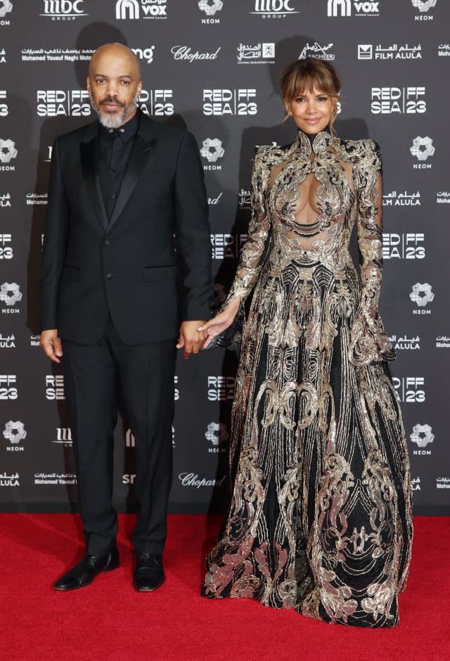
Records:
M108 219L113 215L117 195L139 129L139 110L118 129L106 129L102 124L97 137L97 167L101 194Z

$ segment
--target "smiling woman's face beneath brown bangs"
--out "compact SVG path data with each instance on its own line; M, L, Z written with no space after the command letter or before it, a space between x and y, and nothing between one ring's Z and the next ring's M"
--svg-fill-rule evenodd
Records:
M319 133L323 131L333 115L336 101L333 96L317 89L304 91L286 103L286 110L291 113L300 131L304 133Z

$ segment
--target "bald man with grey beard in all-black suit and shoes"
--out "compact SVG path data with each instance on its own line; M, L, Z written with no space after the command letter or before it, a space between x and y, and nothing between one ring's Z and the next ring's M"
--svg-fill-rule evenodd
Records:
M198 353L213 295L207 198L193 136L137 109L132 51L101 46L87 89L98 120L54 143L41 264L40 344L63 363L86 542L54 587L82 588L119 566L120 385L136 446L134 586L153 591L165 581L176 347Z

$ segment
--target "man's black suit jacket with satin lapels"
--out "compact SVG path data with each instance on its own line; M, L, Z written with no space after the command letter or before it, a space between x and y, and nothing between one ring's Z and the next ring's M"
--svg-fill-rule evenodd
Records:
M141 114L108 222L96 172L97 134L98 121L53 146L41 330L58 328L65 340L91 344L110 314L127 344L178 338L181 320L210 317L213 291L197 143L187 131Z

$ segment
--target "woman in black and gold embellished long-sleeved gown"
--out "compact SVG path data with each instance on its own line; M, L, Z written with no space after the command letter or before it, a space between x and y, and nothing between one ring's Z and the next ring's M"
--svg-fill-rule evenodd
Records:
M329 63L293 63L281 88L299 131L290 146L257 150L249 238L222 311L203 326L214 344L252 292L231 503L203 594L394 627L412 520L395 355L378 314L380 149L335 136L340 81Z

